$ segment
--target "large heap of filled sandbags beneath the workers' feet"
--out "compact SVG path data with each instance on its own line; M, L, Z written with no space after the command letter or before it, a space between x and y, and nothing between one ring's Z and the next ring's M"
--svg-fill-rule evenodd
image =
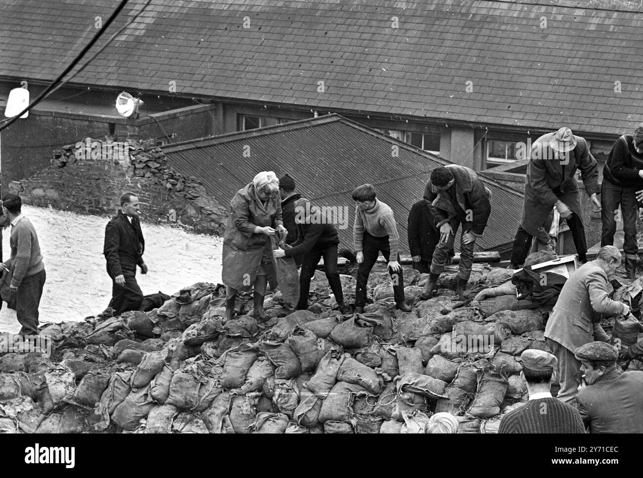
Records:
M375 272L363 314L332 309L324 277L307 311L267 296L267 322L224 324L225 288L199 282L149 312L48 326L50 360L0 356L0 431L423 433L446 411L496 432L527 400L520 353L547 349L543 311L453 309L446 291L403 313ZM404 268L407 289L420 280Z

